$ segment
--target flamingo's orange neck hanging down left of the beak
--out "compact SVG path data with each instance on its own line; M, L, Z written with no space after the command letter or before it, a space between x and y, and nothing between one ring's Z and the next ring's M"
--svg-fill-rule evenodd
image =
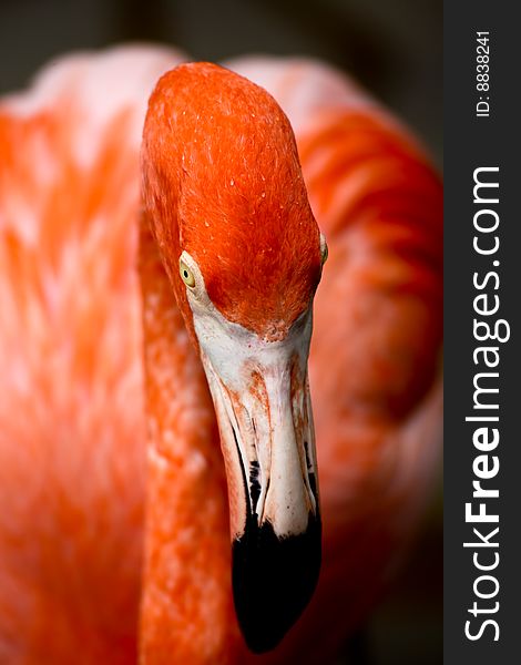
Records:
M201 361L145 219L140 277L149 473L141 655L227 663L241 637L218 434Z

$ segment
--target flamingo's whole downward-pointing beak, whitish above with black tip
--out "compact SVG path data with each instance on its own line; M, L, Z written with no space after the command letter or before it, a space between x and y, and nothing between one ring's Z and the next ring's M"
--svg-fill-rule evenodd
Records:
M195 323L226 464L235 608L248 647L262 653L302 614L320 567L311 310L280 341L228 321L212 328Z

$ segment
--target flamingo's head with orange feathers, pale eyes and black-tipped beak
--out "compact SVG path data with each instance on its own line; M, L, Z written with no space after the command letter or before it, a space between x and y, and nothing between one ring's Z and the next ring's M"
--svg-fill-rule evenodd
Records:
M143 198L197 346L226 467L237 618L273 648L320 565L307 359L326 257L289 122L246 79L181 65L153 92Z

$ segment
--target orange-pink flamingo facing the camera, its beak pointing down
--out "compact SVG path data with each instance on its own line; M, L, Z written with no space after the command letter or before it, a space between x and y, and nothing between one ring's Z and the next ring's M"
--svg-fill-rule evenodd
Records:
M185 61L0 104L2 663L327 663L436 469L423 150L325 64Z

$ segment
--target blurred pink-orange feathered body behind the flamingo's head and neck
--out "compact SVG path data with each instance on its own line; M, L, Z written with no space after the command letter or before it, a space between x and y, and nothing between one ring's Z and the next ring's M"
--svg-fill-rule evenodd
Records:
M79 662L132 662L140 601L141 630L164 625L155 601L143 601L146 572L140 577L146 481L137 151L149 93L184 58L155 48L76 57L2 105L6 662L21 654L70 662L80 643ZM341 74L303 59L225 64L269 90L288 114L329 245L309 369L323 574L302 620L265 656L327 662L345 656L349 634L388 584L436 473L441 188L417 143ZM183 354L190 406L201 402L201 427L214 441L196 356L188 346ZM210 513L225 534L216 449L202 452L214 483ZM149 514L162 499L149 497ZM218 551L216 565L227 570L229 554ZM215 608L228 616L229 602L206 616ZM234 625L228 637L222 662L244 662Z

